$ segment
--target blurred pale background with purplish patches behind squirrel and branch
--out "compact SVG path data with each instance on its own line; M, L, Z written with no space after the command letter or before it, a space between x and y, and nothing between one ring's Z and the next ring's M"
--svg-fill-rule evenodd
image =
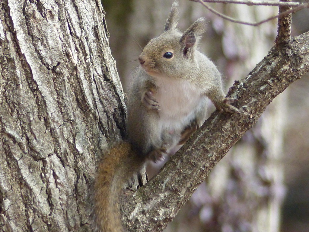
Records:
M162 33L172 2L102 0L112 54L125 91L142 48ZM259 27L246 26L226 21L199 3L179 2L182 31L199 17L209 21L199 47L221 71L226 92L274 45L277 19ZM275 6L209 5L247 22L278 13ZM293 36L307 32L308 22L309 9L295 13ZM308 232L308 89L306 75L280 94L256 126L216 165L165 232ZM213 110L211 106L209 112ZM154 175L160 165L148 167L149 175Z

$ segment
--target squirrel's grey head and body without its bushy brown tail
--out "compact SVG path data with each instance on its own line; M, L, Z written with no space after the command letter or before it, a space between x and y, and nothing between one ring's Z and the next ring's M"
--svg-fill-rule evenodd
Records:
M205 19L184 33L177 28L174 2L164 32L148 42L138 60L140 68L128 93L129 141L153 161L175 153L205 121L207 98L219 111L238 112L226 98L217 67L199 52ZM168 139L165 139L165 138ZM179 142L179 141L178 141Z

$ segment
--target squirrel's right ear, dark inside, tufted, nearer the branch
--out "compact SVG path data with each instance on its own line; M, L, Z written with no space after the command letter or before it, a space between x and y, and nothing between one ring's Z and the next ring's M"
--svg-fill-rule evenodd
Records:
M183 45L183 54L189 58L192 47L198 43L199 36L205 32L205 18L197 19L182 35L180 43Z

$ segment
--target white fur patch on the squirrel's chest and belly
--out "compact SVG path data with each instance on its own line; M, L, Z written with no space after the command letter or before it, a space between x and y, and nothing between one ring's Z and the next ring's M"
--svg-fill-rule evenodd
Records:
M195 117L195 112L207 104L205 89L187 80L158 78L155 98L159 102L162 130L182 131Z

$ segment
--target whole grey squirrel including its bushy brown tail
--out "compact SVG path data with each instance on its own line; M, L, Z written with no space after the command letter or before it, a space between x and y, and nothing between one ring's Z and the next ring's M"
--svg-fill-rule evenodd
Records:
M206 119L207 99L217 110L239 113L225 97L217 67L197 50L205 18L184 33L177 28L174 2L164 32L151 39L138 57L140 67L128 92L128 140L104 155L95 181L95 231L124 231L118 195L147 161L175 153Z

